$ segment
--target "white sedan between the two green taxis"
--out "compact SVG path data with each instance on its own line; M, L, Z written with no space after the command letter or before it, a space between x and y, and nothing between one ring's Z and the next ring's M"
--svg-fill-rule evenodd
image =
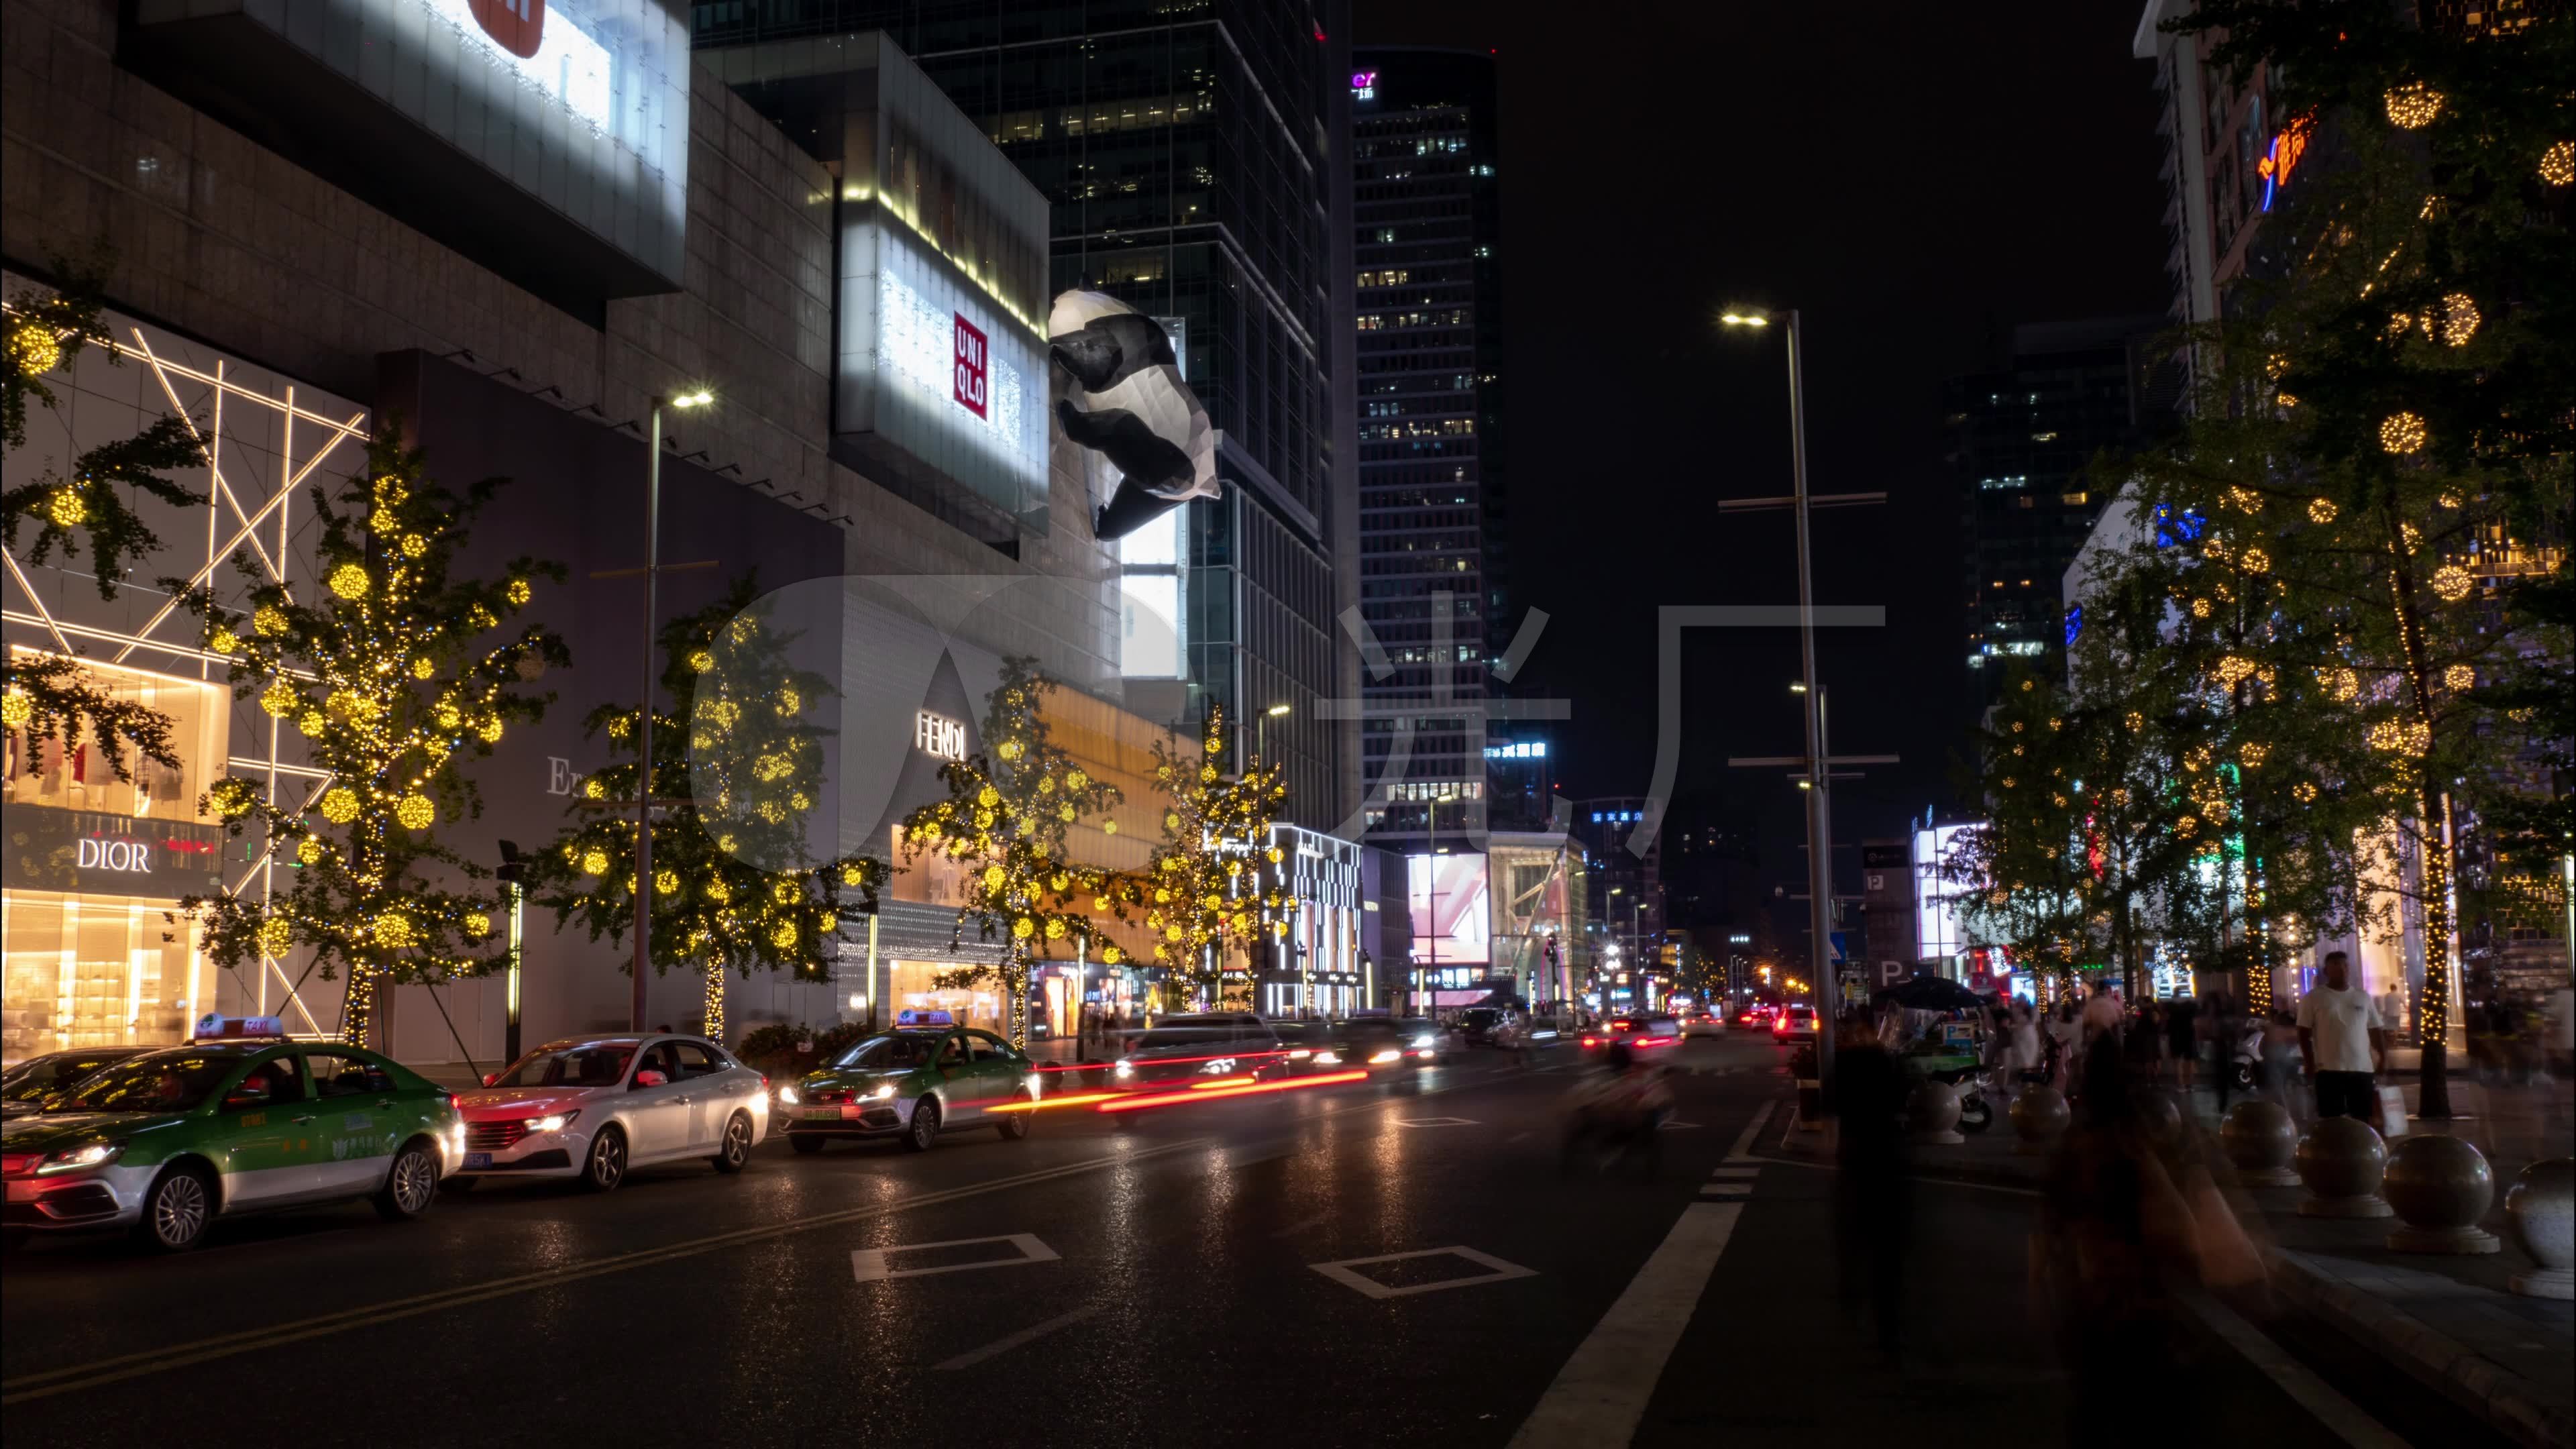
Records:
M739 1173L770 1129L770 1080L703 1036L546 1042L459 1093L477 1178L580 1178L611 1191L631 1168L698 1158Z

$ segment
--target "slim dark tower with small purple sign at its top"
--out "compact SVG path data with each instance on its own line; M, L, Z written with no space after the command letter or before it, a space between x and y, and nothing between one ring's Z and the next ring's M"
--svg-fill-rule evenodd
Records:
M1486 735L1510 629L1494 57L1360 49L1350 95L1360 616L1391 665L1360 686L1368 833L1543 828L1486 784L1533 758Z

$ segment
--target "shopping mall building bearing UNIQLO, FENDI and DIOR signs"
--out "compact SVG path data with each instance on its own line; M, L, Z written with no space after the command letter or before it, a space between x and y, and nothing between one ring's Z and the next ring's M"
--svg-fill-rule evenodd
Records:
M1118 477L1054 423L1046 201L891 44L809 49L796 85L837 126L829 147L693 64L675 0L533 18L482 0L10 0L8 291L108 260L113 348L46 379L59 407L31 410L8 485L167 413L209 462L175 474L201 505L144 500L162 549L113 601L59 554L13 552L0 580L10 650L80 655L165 712L178 753L126 781L95 745L8 740L0 1055L178 1042L209 1011L337 1026L343 987L309 959L219 967L165 918L183 895L278 884L255 838L198 815L211 781L304 799L322 776L296 730L232 696L157 580L229 601L255 580L314 588L312 492L361 474L368 438L397 425L448 487L510 480L464 567L567 570L536 616L572 668L544 678L544 722L469 766L484 810L443 830L466 856L554 841L603 763L582 717L634 704L644 433L654 397L706 387L714 407L665 413L657 619L757 575L801 663L840 683L814 853L894 853L896 820L943 797L938 766L981 748L1002 660L1025 655L1064 686L1056 740L1126 792L1115 833L1077 830L1077 859L1144 864L1172 722L1123 709L1139 621L1115 539L1092 529ZM1293 828L1278 843L1301 900L1262 1003L1373 1000L1363 853ZM732 1034L902 1006L997 1016L989 993L933 987L997 951L953 902L953 879L896 874L876 915L845 920L824 980L737 980ZM623 957L531 908L526 1042L626 1026ZM1141 1008L1154 987L1061 962L1038 1016L1064 1029L1084 998ZM399 1057L502 1052L505 977L394 995ZM698 1013L693 975L652 985L652 1021Z

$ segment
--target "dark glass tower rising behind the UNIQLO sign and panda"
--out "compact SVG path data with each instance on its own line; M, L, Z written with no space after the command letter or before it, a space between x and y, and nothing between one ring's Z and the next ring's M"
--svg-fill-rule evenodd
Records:
M1218 431L1224 495L1121 541L1126 699L1157 719L1211 706L1247 719L1231 748L1260 740L1288 766L1288 815L1327 830L1358 802L1321 709L1342 694L1347 650L1332 629L1332 518L1350 505L1337 446L1350 387L1334 384L1327 333L1352 286L1332 266L1329 219L1345 13L1347 0L693 8L701 52L894 36L1046 196L1051 291L1105 291L1164 322Z

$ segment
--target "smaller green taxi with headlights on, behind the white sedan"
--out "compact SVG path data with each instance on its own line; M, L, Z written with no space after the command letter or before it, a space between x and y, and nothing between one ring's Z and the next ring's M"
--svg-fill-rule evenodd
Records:
M956 1026L945 1011L904 1011L894 1031L868 1036L778 1088L788 1145L822 1152L835 1137L902 1137L927 1152L940 1132L994 1127L1028 1137L1038 1073L989 1031Z

